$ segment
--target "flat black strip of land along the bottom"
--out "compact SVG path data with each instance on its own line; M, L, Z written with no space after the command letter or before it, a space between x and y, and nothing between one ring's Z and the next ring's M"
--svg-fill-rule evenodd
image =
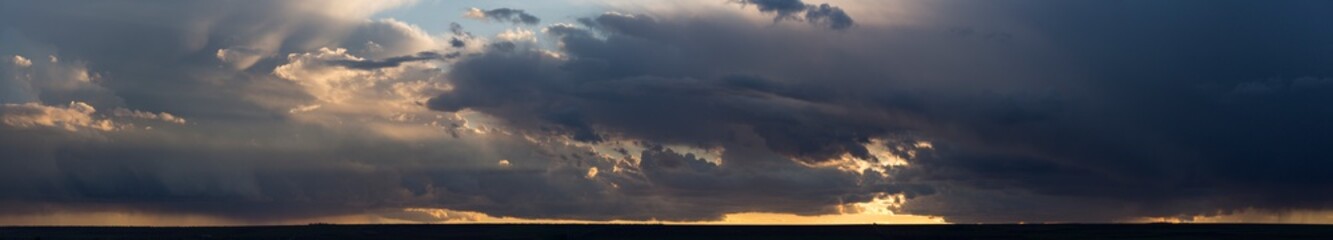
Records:
M1333 225L1297 224L969 224L969 225L616 225L444 224L287 227L5 227L0 240L700 240L700 239L1333 239Z

